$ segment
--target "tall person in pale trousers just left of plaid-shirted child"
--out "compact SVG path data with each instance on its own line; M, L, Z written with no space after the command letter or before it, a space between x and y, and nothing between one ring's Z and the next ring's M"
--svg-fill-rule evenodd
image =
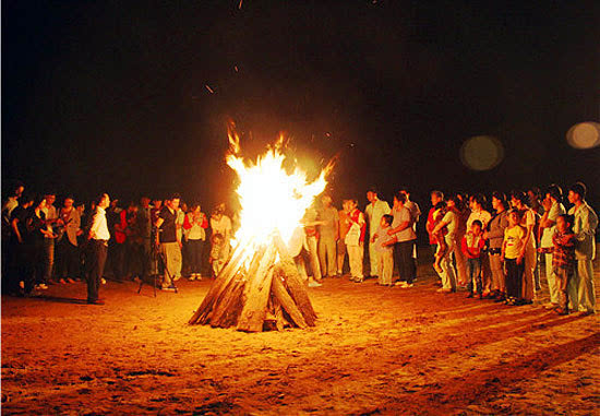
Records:
M552 251L554 243L552 237L556 231L556 218L561 214L565 214L565 207L561 203L563 199L563 190L557 185L551 185L542 201L543 216L540 219L541 239L539 251L544 254L545 260L545 280L548 281L548 292L550 293L550 301L544 305L545 308L554 309L559 306L559 286L554 275L554 266L552 262Z

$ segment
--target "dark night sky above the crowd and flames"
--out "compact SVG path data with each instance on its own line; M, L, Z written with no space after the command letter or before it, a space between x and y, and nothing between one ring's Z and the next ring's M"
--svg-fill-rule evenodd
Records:
M230 201L232 119L250 156L337 156L337 200L584 180L598 211L600 147L565 133L600 119L599 2L493 3L5 0L2 183ZM505 157L473 171L481 134Z

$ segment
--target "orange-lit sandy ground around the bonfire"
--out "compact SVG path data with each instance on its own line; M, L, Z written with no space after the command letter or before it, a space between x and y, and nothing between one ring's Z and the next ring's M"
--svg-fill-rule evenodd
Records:
M437 294L430 270L409 289L325 281L316 328L279 333L188 325L211 282L3 297L2 413L600 414L598 314Z

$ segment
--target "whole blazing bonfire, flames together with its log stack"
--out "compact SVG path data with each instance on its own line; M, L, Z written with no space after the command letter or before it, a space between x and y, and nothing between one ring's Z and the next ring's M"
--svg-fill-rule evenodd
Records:
M245 332L314 326L316 314L289 247L325 189L331 165L309 181L296 164L288 166L283 135L255 162L240 156L233 126L228 136L227 164L240 180L241 225L228 263L190 323Z

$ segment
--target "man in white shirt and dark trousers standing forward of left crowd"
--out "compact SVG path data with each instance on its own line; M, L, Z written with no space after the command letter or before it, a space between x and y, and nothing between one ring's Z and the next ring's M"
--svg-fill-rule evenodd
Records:
M96 212L92 218L92 226L87 234L88 240L88 274L87 274L87 304L104 305L104 300L98 297L100 280L104 274L104 266L108 253L108 240L110 233L106 219L106 209L110 205L108 193L103 193L96 206Z

